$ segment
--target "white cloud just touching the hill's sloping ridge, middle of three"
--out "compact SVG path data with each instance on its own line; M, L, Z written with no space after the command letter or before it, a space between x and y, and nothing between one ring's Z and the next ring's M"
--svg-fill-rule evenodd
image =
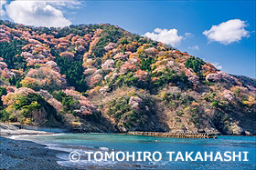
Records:
M180 44L181 40L183 39L183 36L177 35L176 29L161 29L161 28L155 28L154 33L145 33L146 37L152 38L155 41L160 41L162 43L165 43L167 45L176 46Z

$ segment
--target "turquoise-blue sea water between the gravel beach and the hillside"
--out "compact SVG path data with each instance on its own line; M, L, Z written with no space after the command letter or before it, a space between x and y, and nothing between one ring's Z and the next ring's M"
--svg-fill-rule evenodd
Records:
M22 138L20 138L22 139ZM59 165L81 169L256 169L256 137L255 136L219 136L217 139L165 138L139 135L117 134L60 134L29 135L23 137L49 149L65 151L58 154ZM80 153L80 161L69 161L69 153ZM85 152L160 152L160 161L89 161ZM248 161L170 161L166 152L248 152ZM195 157L195 156L194 156Z

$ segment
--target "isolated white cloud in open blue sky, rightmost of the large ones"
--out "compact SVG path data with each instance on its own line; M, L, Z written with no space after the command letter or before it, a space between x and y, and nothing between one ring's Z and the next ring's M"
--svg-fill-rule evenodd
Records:
M229 45L239 42L242 37L249 37L249 32L244 29L246 22L240 19L232 19L219 25L212 25L210 30L203 32L208 37L209 42L219 42L223 45Z

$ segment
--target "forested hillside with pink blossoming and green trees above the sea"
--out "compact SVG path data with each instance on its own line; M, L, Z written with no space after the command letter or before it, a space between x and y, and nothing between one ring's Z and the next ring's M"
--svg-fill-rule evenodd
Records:
M116 25L0 21L0 85L3 122L256 135L255 79Z

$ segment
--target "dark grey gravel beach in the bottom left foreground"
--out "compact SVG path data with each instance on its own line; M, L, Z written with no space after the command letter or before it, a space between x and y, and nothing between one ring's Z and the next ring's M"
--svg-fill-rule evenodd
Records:
M74 169L58 165L59 158L55 155L61 152L45 147L46 145L30 141L12 140L0 136L0 169Z

